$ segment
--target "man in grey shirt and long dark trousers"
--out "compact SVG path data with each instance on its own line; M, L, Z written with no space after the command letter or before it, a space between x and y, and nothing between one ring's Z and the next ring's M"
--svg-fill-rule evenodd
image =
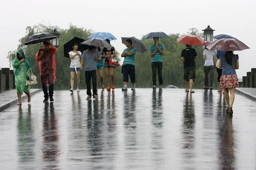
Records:
M93 98L97 99L97 61L100 61L98 50L94 49L94 46L90 45L88 50L82 53L81 68L83 70L83 61L86 62L85 75L86 75L86 86L87 86L87 100L92 98L91 92L91 79L93 83Z

